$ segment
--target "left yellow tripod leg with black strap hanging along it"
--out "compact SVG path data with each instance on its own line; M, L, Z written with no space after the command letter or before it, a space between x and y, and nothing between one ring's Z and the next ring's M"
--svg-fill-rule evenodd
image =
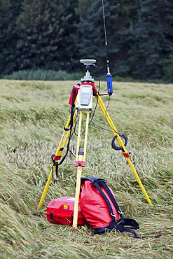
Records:
M74 116L73 116L73 121L75 120L75 118L76 118L76 111L75 111ZM69 116L69 119L67 120L67 124L66 124L66 127L65 127L66 130L64 130L64 132L62 134L62 138L60 140L60 144L57 147L57 151L55 153L55 159L57 159L57 160L60 160L62 152L64 150L64 147L67 144L67 139L69 139L69 134L70 134L69 126L70 126L70 122L71 122L71 115ZM57 160L55 160L55 161L57 162ZM50 174L48 176L48 181L46 182L46 186L45 186L45 188L43 190L43 194L41 195L41 200L39 202L37 210L41 209L41 206L42 206L43 201L45 199L46 193L48 191L48 187L50 186L50 181L51 181L51 179L53 177L53 172L54 171L55 171L55 166L53 166L53 169L50 170Z

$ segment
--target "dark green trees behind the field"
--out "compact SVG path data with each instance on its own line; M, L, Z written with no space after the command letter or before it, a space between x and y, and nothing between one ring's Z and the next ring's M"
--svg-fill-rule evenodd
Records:
M97 59L106 73L102 0L0 0L0 74L67 72ZM104 0L113 76L173 81L173 1Z

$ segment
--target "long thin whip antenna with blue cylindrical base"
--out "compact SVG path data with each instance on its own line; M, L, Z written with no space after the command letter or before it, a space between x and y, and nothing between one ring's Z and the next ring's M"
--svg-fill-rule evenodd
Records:
M110 73L110 68L109 68L108 43L107 43L107 37L106 37L106 20L105 20L105 15L104 15L104 1L103 0L102 0L102 8L103 8L103 20L104 20L104 38L105 38L105 47L106 47L106 62L107 62L106 83L107 83L108 94L111 95L113 93L112 75Z

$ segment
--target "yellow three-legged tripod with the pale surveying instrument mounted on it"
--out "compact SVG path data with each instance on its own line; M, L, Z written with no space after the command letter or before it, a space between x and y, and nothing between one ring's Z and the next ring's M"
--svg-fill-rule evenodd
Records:
M89 59L86 59L89 60ZM120 137L120 134L118 134L116 127L113 125L113 122L111 120L111 117L109 116L108 111L106 111L106 107L104 106L102 99L99 95L99 92L97 92L97 89L95 88L95 85L93 83L93 78L90 76L89 72L89 66L86 66L87 72L85 73L84 78L81 78L81 85L74 86L73 90L71 92L71 98L69 101L69 104L71 104L71 115L69 116L69 119L67 121L67 125L64 128L64 132L62 134L62 139L60 140L60 144L57 147L57 151L55 153L55 156L53 160L55 161L53 165L53 169L50 171L48 181L46 183L46 186L43 190L43 194L41 196L41 200L39 202L39 206L37 209L41 209L41 206L43 204L44 198L46 196L46 193L48 191L48 187L50 185L50 181L53 176L53 172L55 171L56 165L58 165L58 161L62 157L62 153L64 151L64 147L67 144L67 141L71 134L71 125L76 120L76 114L79 111L79 121L78 121L78 138L77 138L77 146L76 146L76 162L75 166L77 167L77 178L76 178L76 194L75 194L75 202L74 202L74 219L73 219L73 228L77 228L77 221L78 221L78 200L79 200L79 194L80 194L80 186L81 186L81 174L82 169L85 167L85 158L86 158L86 152L87 152L87 141L88 141L88 125L90 123L90 113L92 110L92 99L91 97L88 100L88 93L91 92L95 96L95 99L99 105L99 108L101 109L104 117L106 118L107 122L109 123L111 132L113 133L113 136L115 137L118 146L120 147L120 150L122 151L124 157L126 158L128 164L130 165L130 168L132 169L132 172L137 179L137 182L139 183L139 186L144 193L144 196L146 197L146 200L148 204L151 205L151 200L149 199L146 190L144 186L142 185L139 176L134 169L134 166L132 165L132 162L130 160L130 154L127 152L125 148L125 144L123 144L123 141ZM85 90L85 91L84 91ZM83 93L84 92L84 93ZM84 95L83 95L84 94ZM84 98L84 97L85 98ZM85 100L87 99L87 104L85 104ZM85 139L83 144L83 151L81 151L81 125L83 121L83 113L86 112L86 121L85 121Z

